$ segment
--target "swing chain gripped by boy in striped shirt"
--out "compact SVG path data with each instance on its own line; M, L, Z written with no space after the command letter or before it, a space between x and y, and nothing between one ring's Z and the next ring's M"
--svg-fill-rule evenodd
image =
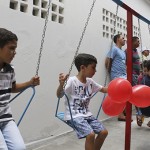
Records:
M46 16L45 16L45 24L44 24L44 28L43 28L40 52L39 52L39 57L38 57L38 61L37 61L36 76L38 76L40 60L41 60L41 57L42 57L42 50L43 50L43 45L44 45L45 33L46 33L46 29L47 29L50 6L51 6L51 0L49 0L48 8L47 8Z

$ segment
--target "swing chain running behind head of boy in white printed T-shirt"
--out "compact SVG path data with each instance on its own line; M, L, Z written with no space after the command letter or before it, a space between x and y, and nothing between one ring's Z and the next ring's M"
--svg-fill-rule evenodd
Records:
M92 6L91 6L91 8L90 8L90 12L89 12L88 17L87 17L87 21L86 21L85 26L84 26L84 28L83 28L83 31L82 31L82 34L81 34L81 37L80 37L80 40L79 40L77 49L76 49L75 54L74 54L73 61L72 61L72 63L71 63L71 66L70 66L70 69L69 69L69 72L68 72L68 77L69 77L70 74L71 74L72 68L73 68L73 66L74 66L75 58L76 58L77 55L78 55L78 52L79 52L79 49L80 49L82 40L83 40L84 35L85 35L86 28L87 28L87 26L88 26L90 17L91 17L91 15L92 15L92 11L93 11L95 2L96 2L96 0L93 0ZM64 83L63 89L65 88L65 86L66 86L66 84L67 84L67 80L68 80L68 78L66 79L66 81L65 81L65 83Z

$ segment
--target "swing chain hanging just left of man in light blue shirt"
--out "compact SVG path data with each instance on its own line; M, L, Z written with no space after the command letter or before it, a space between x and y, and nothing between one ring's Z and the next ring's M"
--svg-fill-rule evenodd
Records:
M117 17L118 17L118 9L119 9L119 5L117 5L117 7L116 7L115 20L114 20L114 28L113 28L113 36L112 36L112 40L111 40L110 50L113 47L113 37L114 37L115 32L116 32L116 22L117 22ZM110 65L110 63L108 63L108 66L109 65ZM108 76L109 76L109 72L108 72L108 69L106 69L106 76L105 76L105 80L104 80L104 87L107 84Z

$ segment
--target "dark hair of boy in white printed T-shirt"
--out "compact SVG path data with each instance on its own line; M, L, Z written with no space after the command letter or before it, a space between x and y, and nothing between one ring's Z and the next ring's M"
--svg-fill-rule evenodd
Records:
M79 54L76 58L75 58L75 66L77 68L78 71L80 71L80 66L84 65L84 66L88 66L90 64L97 64L97 59L90 54Z

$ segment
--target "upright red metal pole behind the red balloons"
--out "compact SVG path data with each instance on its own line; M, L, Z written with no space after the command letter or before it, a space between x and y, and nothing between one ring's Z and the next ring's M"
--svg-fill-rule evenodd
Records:
M127 79L132 83L132 13L127 10ZM125 150L130 150L132 105L126 104Z

